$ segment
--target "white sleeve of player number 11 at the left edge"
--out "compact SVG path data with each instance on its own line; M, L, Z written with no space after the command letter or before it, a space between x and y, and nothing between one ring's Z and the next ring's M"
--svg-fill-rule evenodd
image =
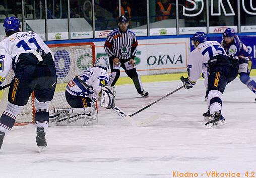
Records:
M13 60L7 54L6 50L0 47L0 86L5 81L9 71L12 69L12 62Z

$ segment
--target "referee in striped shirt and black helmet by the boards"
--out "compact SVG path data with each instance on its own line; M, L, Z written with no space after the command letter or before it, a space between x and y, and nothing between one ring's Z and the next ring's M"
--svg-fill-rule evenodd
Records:
M108 84L114 86L120 76L120 67L133 80L137 92L148 97L149 93L142 87L140 77L135 68L135 54L137 51L138 42L136 35L130 29L129 19L125 16L120 16L118 19L118 28L113 30L107 37L105 42L105 51L109 57L111 74Z

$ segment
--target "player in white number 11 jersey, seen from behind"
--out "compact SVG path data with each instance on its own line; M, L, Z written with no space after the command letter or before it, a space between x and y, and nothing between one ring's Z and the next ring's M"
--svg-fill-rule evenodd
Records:
M0 143L1 140L3 142L1 135L11 130L22 106L27 104L34 92L36 142L40 150L47 145L45 132L49 121L48 102L53 98L57 80L53 55L36 33L20 32L20 21L17 18L6 18L4 28L7 37L0 42L0 48L6 51L2 55L5 65L2 66L2 72L4 77L7 76L11 69L8 61L11 60L15 77L9 88L9 104L0 118Z

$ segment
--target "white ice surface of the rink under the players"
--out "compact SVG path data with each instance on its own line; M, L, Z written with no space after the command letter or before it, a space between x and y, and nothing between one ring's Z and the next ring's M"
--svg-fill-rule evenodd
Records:
M256 78L254 77L254 80ZM149 98L133 85L116 87L116 105L132 114L172 90L180 81L145 83ZM38 153L33 125L15 127L0 151L0 177L163 178L172 171L256 173L256 103L239 79L223 94L227 124L204 128L203 80L181 89L134 116L158 114L148 126L133 127L111 109L99 109L97 125L49 127L48 146ZM256 174L254 175L256 176ZM212 177L212 176L210 176ZM245 177L245 176L241 176Z

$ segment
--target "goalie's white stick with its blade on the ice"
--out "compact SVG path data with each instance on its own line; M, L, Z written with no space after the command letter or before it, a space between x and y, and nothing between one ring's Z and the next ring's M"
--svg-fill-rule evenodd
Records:
M77 80L79 80L83 85L85 85L87 88L90 88L91 91L94 92L93 88L91 88L89 85L87 85L83 80L81 80L78 76L75 77ZM146 118L142 121L139 120L134 120L130 115L124 113L118 106L114 106L113 109L117 115L121 116L122 118L124 118L125 120L127 120L131 125L133 126L144 126L148 123L153 122L154 120L158 119L157 115L153 115L149 118Z

